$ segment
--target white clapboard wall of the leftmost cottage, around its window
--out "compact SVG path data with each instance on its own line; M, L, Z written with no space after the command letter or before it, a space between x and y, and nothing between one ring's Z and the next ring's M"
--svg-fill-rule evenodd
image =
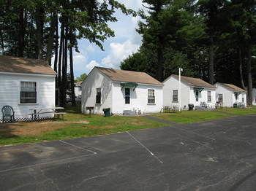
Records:
M37 104L20 104L20 81L37 82ZM12 106L17 119L31 117L30 109L53 108L55 106L55 77L0 74L0 109L6 105ZM42 117L51 116L52 114L45 114Z

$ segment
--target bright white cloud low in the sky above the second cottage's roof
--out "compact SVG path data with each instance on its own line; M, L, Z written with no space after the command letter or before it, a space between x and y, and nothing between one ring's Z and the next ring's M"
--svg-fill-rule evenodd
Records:
M139 44L132 43L130 40L124 43L110 43L110 54L102 59L102 65L106 67L118 68L121 61L136 52Z

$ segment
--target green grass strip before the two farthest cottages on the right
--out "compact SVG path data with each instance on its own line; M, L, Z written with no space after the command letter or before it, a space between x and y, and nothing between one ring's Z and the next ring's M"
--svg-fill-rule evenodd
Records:
M154 114L155 117L163 120L170 120L178 123L201 122L208 120L217 120L225 117L232 117L244 114L256 114L256 107L247 109L216 109L212 111L184 111L181 113Z

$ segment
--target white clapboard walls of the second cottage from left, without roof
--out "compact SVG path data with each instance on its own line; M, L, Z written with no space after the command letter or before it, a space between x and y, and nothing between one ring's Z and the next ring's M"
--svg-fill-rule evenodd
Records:
M101 88L102 103L96 104L96 90ZM86 107L93 106L94 112L102 114L102 109L110 108L113 114L123 114L124 110L140 110L140 112L160 112L162 108L162 86L143 85L130 88L130 104L125 104L124 88L120 82L113 82L98 69L93 69L82 83L82 112L88 113ZM155 104L148 104L148 89L155 90Z

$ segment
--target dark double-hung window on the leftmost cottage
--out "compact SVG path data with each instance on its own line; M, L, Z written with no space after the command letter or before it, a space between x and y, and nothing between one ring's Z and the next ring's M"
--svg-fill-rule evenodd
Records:
M37 104L37 82L20 82L20 104Z

